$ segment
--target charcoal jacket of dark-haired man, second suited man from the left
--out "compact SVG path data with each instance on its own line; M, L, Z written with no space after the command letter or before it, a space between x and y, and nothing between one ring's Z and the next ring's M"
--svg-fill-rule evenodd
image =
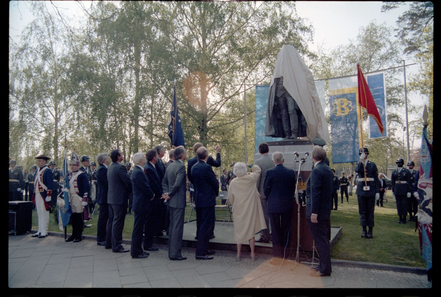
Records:
M108 192L107 203L127 204L132 183L124 165L113 162L107 170Z

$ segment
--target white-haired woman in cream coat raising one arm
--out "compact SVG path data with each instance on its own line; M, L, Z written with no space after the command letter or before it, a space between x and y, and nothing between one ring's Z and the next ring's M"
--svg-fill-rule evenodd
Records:
M260 195L256 183L261 169L257 165L251 167L247 174L245 163L236 163L233 173L237 176L228 188L228 202L232 205L234 240L237 243L236 260L240 261L242 243L248 241L251 249L251 261L257 258L254 254L254 235L266 228Z

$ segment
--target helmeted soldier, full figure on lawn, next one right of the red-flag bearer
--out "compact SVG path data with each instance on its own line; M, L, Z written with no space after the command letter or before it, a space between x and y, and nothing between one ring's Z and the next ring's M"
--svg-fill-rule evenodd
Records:
M396 200L396 211L400 220L396 223L405 224L407 215L407 198L411 197L411 172L403 168L404 160L396 160L396 169L392 172L392 195Z

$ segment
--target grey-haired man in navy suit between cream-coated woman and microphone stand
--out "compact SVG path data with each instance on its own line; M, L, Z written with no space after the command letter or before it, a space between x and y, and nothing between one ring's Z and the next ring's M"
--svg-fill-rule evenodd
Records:
M284 247L288 242L291 225L292 204L295 192L295 172L283 166L284 155L273 153L274 168L265 174L263 191L268 198L268 216L271 224L274 260L270 264L279 265L288 256Z

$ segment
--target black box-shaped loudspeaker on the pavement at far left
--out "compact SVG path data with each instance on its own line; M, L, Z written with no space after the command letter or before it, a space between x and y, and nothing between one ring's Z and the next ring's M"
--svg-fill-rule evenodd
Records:
M27 233L32 228L32 202L9 201L9 233Z

